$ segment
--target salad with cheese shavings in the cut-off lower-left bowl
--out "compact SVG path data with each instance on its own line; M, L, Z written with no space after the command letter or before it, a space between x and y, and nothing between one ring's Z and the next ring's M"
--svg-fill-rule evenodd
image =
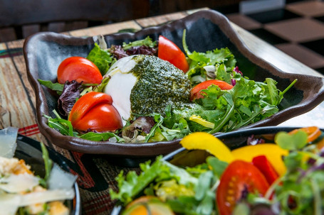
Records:
M43 143L46 174L34 175L25 160L14 158L17 131L11 127L0 131L0 214L70 214L64 201L75 196L75 176L53 164Z

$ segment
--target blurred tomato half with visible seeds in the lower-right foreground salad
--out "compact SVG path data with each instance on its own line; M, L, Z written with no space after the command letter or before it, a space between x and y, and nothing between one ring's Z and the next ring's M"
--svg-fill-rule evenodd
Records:
M216 191L216 204L219 214L230 215L236 202L241 199L242 191L266 194L269 184L266 177L250 162L235 160L223 175Z

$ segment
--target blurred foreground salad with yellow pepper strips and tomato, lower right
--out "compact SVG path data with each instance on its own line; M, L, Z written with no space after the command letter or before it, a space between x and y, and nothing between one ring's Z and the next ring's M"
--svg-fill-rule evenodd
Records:
M300 128L229 150L192 133L181 141L184 154L142 163L140 175L120 172L110 196L121 214L323 214L323 137L317 127Z

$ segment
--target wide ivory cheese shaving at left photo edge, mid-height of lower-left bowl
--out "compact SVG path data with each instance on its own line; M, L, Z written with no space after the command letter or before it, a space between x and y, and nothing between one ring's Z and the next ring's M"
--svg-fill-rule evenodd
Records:
M9 177L0 178L0 189L9 193L26 192L36 187L38 183L39 178L31 174L11 174Z

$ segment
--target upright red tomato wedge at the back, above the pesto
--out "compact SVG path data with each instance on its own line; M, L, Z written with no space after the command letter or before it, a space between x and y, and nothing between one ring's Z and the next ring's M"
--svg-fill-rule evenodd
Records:
M189 64L187 62L186 56L182 53L182 50L179 49L171 40L160 35L159 37L159 46L157 51L157 57L160 57L162 60L167 60L172 63L175 67L180 70L187 72L189 70Z

